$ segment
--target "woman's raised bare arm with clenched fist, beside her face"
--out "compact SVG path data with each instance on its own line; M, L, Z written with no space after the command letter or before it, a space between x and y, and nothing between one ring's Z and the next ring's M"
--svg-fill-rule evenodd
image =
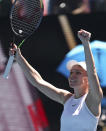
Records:
M100 114L100 104L101 99L103 97L103 92L100 87L99 79L95 69L93 55L89 44L91 33L85 30L80 30L78 32L78 37L84 46L85 61L87 64L89 93L86 99L86 103L88 107L91 109L91 111L97 116Z

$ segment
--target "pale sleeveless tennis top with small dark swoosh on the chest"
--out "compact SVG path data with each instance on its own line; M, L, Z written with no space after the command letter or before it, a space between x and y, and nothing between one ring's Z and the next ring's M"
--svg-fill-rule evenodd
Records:
M72 96L66 101L61 116L61 131L96 131L99 117L88 109L86 96L79 99Z

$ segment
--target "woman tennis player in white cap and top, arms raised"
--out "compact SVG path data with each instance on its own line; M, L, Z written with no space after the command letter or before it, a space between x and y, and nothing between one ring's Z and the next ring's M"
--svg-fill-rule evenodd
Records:
M78 37L84 46L86 62L71 60L67 63L70 71L69 86L74 89L74 94L58 89L45 81L26 61L16 45L10 50L10 55L16 52L15 59L33 86L52 100L64 105L61 115L61 131L96 131L101 114L103 92L89 45L91 33L80 30Z

